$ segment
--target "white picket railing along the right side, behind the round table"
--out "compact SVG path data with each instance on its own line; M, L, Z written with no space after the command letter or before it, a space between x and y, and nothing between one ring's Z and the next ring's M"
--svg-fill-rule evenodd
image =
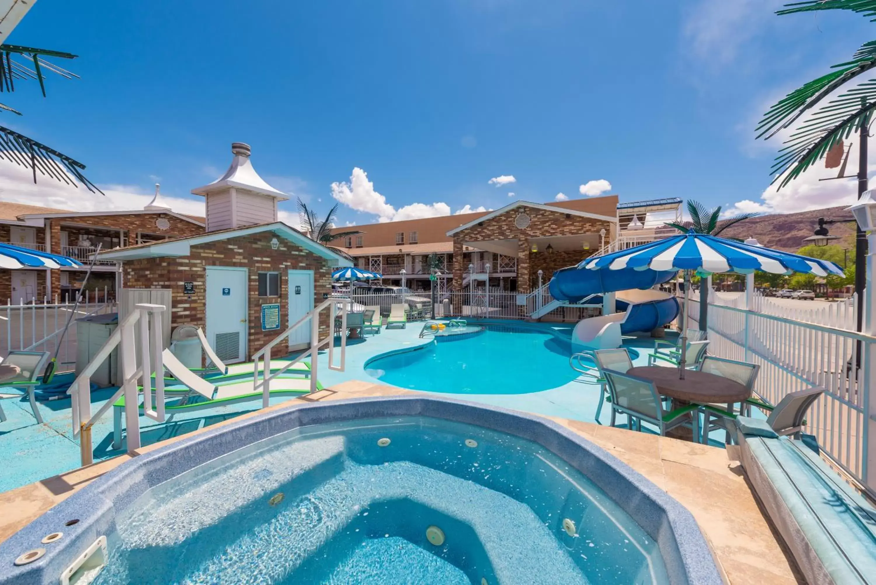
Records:
M839 317L837 317L837 314ZM688 304L696 326L699 302ZM837 310L837 324L847 316ZM779 403L795 390L820 386L825 391L807 417L830 460L876 494L876 463L868 459L870 396L876 388L876 338L831 325L709 303L709 353L760 365L754 390Z

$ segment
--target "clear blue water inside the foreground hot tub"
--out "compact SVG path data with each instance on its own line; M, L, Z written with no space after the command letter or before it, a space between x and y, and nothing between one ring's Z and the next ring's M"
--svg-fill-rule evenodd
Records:
M653 539L564 460L428 417L265 439L149 489L114 525L96 585L668 582Z

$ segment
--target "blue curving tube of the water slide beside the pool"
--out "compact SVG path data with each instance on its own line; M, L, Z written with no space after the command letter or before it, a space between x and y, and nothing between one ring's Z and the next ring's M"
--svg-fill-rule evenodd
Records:
M651 289L655 284L671 280L675 274L675 270L586 270L569 267L554 273L548 289L555 299L576 303L605 292ZM630 303L621 294L618 295L616 308L626 311L626 318L620 323L620 331L624 334L653 331L675 319L680 310L675 296L670 295Z

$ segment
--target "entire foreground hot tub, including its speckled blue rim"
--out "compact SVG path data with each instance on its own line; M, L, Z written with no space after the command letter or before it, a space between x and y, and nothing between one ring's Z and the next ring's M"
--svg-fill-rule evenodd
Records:
M104 535L98 585L720 582L689 512L602 449L434 398L279 410L141 455L0 544L0 583L58 582Z

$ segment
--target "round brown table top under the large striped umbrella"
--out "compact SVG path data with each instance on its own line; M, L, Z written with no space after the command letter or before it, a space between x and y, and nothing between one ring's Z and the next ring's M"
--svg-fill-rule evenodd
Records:
M663 396L689 403L740 403L752 397L752 391L739 382L696 370L685 370L684 380L679 380L677 367L640 366L627 374L650 380Z

